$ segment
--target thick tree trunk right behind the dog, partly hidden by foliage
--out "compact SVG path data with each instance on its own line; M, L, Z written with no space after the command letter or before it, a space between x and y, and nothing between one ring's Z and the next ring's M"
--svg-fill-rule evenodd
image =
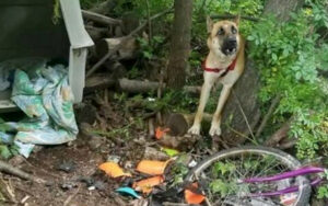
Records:
M303 3L304 0L267 0L263 14L277 14L284 22L289 20L290 12L296 11ZM222 115L222 137L231 145L244 142L245 135L249 136L250 130L254 135L254 128L260 118L257 101L259 88L256 65L247 59L245 71L234 85L234 92L230 95Z

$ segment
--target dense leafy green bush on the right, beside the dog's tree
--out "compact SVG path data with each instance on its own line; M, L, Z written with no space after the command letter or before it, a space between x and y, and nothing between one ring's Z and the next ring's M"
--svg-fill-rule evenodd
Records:
M327 154L328 149L325 117L328 95L323 87L326 82L318 75L318 69L327 69L324 55L328 47L317 45L316 33L316 27L326 26L327 12L320 10L321 4L308 3L311 8L292 14L290 22L281 23L268 16L247 36L251 43L249 55L261 75L259 99L266 105L281 95L273 123L286 122L292 116L290 136L298 139L296 148L301 159ZM270 35L268 31L272 31Z

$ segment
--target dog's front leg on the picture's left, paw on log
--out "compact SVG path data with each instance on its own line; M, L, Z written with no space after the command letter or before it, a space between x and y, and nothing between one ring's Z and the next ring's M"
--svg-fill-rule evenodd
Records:
M189 134L192 135L199 135L200 134L200 124L202 119L203 110L207 105L207 102L210 96L211 89L215 82L215 78L213 76L210 76L208 73L204 73L204 82L201 87L201 93L200 93L200 101L199 106L195 116L194 125L188 130Z

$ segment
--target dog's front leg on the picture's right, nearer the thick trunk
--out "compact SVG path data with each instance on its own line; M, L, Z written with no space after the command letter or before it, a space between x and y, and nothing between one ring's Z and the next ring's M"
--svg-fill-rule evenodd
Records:
M211 129L210 129L210 136L214 136L214 135L218 135L220 136L221 135L221 113L222 113L222 110L223 110L223 106L230 95L230 92L231 92L231 88L232 85L223 85L223 89L221 91L221 94L220 94L220 98L219 98L219 103L218 103L218 106L216 106L216 111L213 115L213 119L212 119L212 124L211 124Z

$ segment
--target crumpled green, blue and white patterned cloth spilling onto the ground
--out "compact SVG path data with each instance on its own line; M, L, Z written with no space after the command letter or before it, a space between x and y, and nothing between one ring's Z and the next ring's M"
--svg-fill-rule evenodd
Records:
M75 139L78 126L67 69L46 61L16 69L11 100L26 114L19 123L0 123L0 142L19 146L28 157L34 145L59 145Z

